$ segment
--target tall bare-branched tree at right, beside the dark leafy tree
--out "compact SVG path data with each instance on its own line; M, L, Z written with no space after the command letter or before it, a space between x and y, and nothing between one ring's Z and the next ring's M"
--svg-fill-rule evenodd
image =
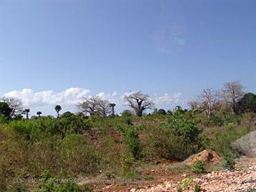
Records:
M222 97L225 99L228 105L231 105L232 113L237 113L236 104L242 96L244 96L244 92L242 91L244 87L240 83L240 81L233 81L229 83L225 83L222 89Z

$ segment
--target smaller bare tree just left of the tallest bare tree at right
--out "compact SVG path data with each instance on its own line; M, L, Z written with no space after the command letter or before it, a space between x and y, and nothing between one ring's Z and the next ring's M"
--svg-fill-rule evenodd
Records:
M212 88L206 88L199 95L199 103L201 105L201 109L207 113L208 118L212 115L212 113L216 109L216 103L218 102L218 92L213 90Z

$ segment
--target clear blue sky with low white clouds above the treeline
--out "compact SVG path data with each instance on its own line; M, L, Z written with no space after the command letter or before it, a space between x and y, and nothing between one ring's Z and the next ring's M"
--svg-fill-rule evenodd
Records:
M235 80L256 92L255 53L255 1L0 1L0 96L32 113L129 90L185 107Z

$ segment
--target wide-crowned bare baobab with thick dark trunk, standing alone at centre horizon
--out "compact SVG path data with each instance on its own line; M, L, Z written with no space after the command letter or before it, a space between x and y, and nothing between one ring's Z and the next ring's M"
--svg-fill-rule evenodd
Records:
M131 107L134 113L139 117L146 109L153 109L154 102L147 94L135 92L133 94L125 95L125 105Z

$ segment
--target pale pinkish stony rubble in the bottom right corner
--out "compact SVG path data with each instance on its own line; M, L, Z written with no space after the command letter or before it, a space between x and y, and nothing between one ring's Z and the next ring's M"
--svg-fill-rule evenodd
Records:
M163 184L141 189L131 189L136 192L160 191L194 191L195 186L201 186L201 191L256 191L256 159L240 159L235 171L211 172L188 179L183 175L181 182L168 180Z

